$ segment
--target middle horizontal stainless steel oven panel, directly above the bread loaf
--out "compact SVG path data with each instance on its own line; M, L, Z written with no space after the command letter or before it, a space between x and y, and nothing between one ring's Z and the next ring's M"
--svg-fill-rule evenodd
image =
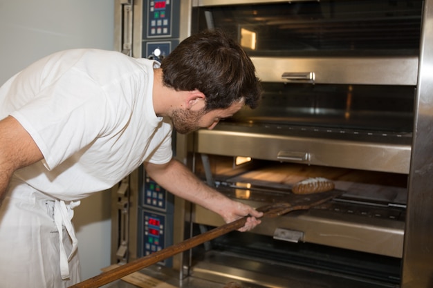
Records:
M409 173L411 147L203 129L196 132L195 151L275 161L284 160L283 151L307 155L300 159L304 164Z

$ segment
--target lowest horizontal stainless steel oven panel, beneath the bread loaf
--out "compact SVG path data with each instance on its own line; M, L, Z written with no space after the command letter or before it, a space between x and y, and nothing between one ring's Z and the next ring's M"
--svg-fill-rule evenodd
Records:
M246 202L254 207L263 203ZM311 210L295 212L279 218L265 218L254 233L273 236L275 229L302 231L302 242L324 244L401 258L403 255L403 221L371 219L357 215L332 214L328 211ZM219 215L194 206L194 222L214 227L224 224Z

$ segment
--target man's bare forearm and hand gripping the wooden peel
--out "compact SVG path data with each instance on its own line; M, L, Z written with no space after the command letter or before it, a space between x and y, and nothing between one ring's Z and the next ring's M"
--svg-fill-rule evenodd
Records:
M257 218L263 215L261 212L225 197L203 183L185 165L176 160L163 165L146 162L145 169L149 176L167 191L218 213L225 222L232 222L246 215L252 216L248 217L245 226L239 231L248 231L260 223Z

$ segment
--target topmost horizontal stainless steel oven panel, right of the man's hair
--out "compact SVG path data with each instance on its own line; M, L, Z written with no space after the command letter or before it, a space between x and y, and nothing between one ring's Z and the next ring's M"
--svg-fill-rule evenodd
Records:
M284 73L314 73L316 84L415 86L418 57L251 57L261 81L287 82Z

